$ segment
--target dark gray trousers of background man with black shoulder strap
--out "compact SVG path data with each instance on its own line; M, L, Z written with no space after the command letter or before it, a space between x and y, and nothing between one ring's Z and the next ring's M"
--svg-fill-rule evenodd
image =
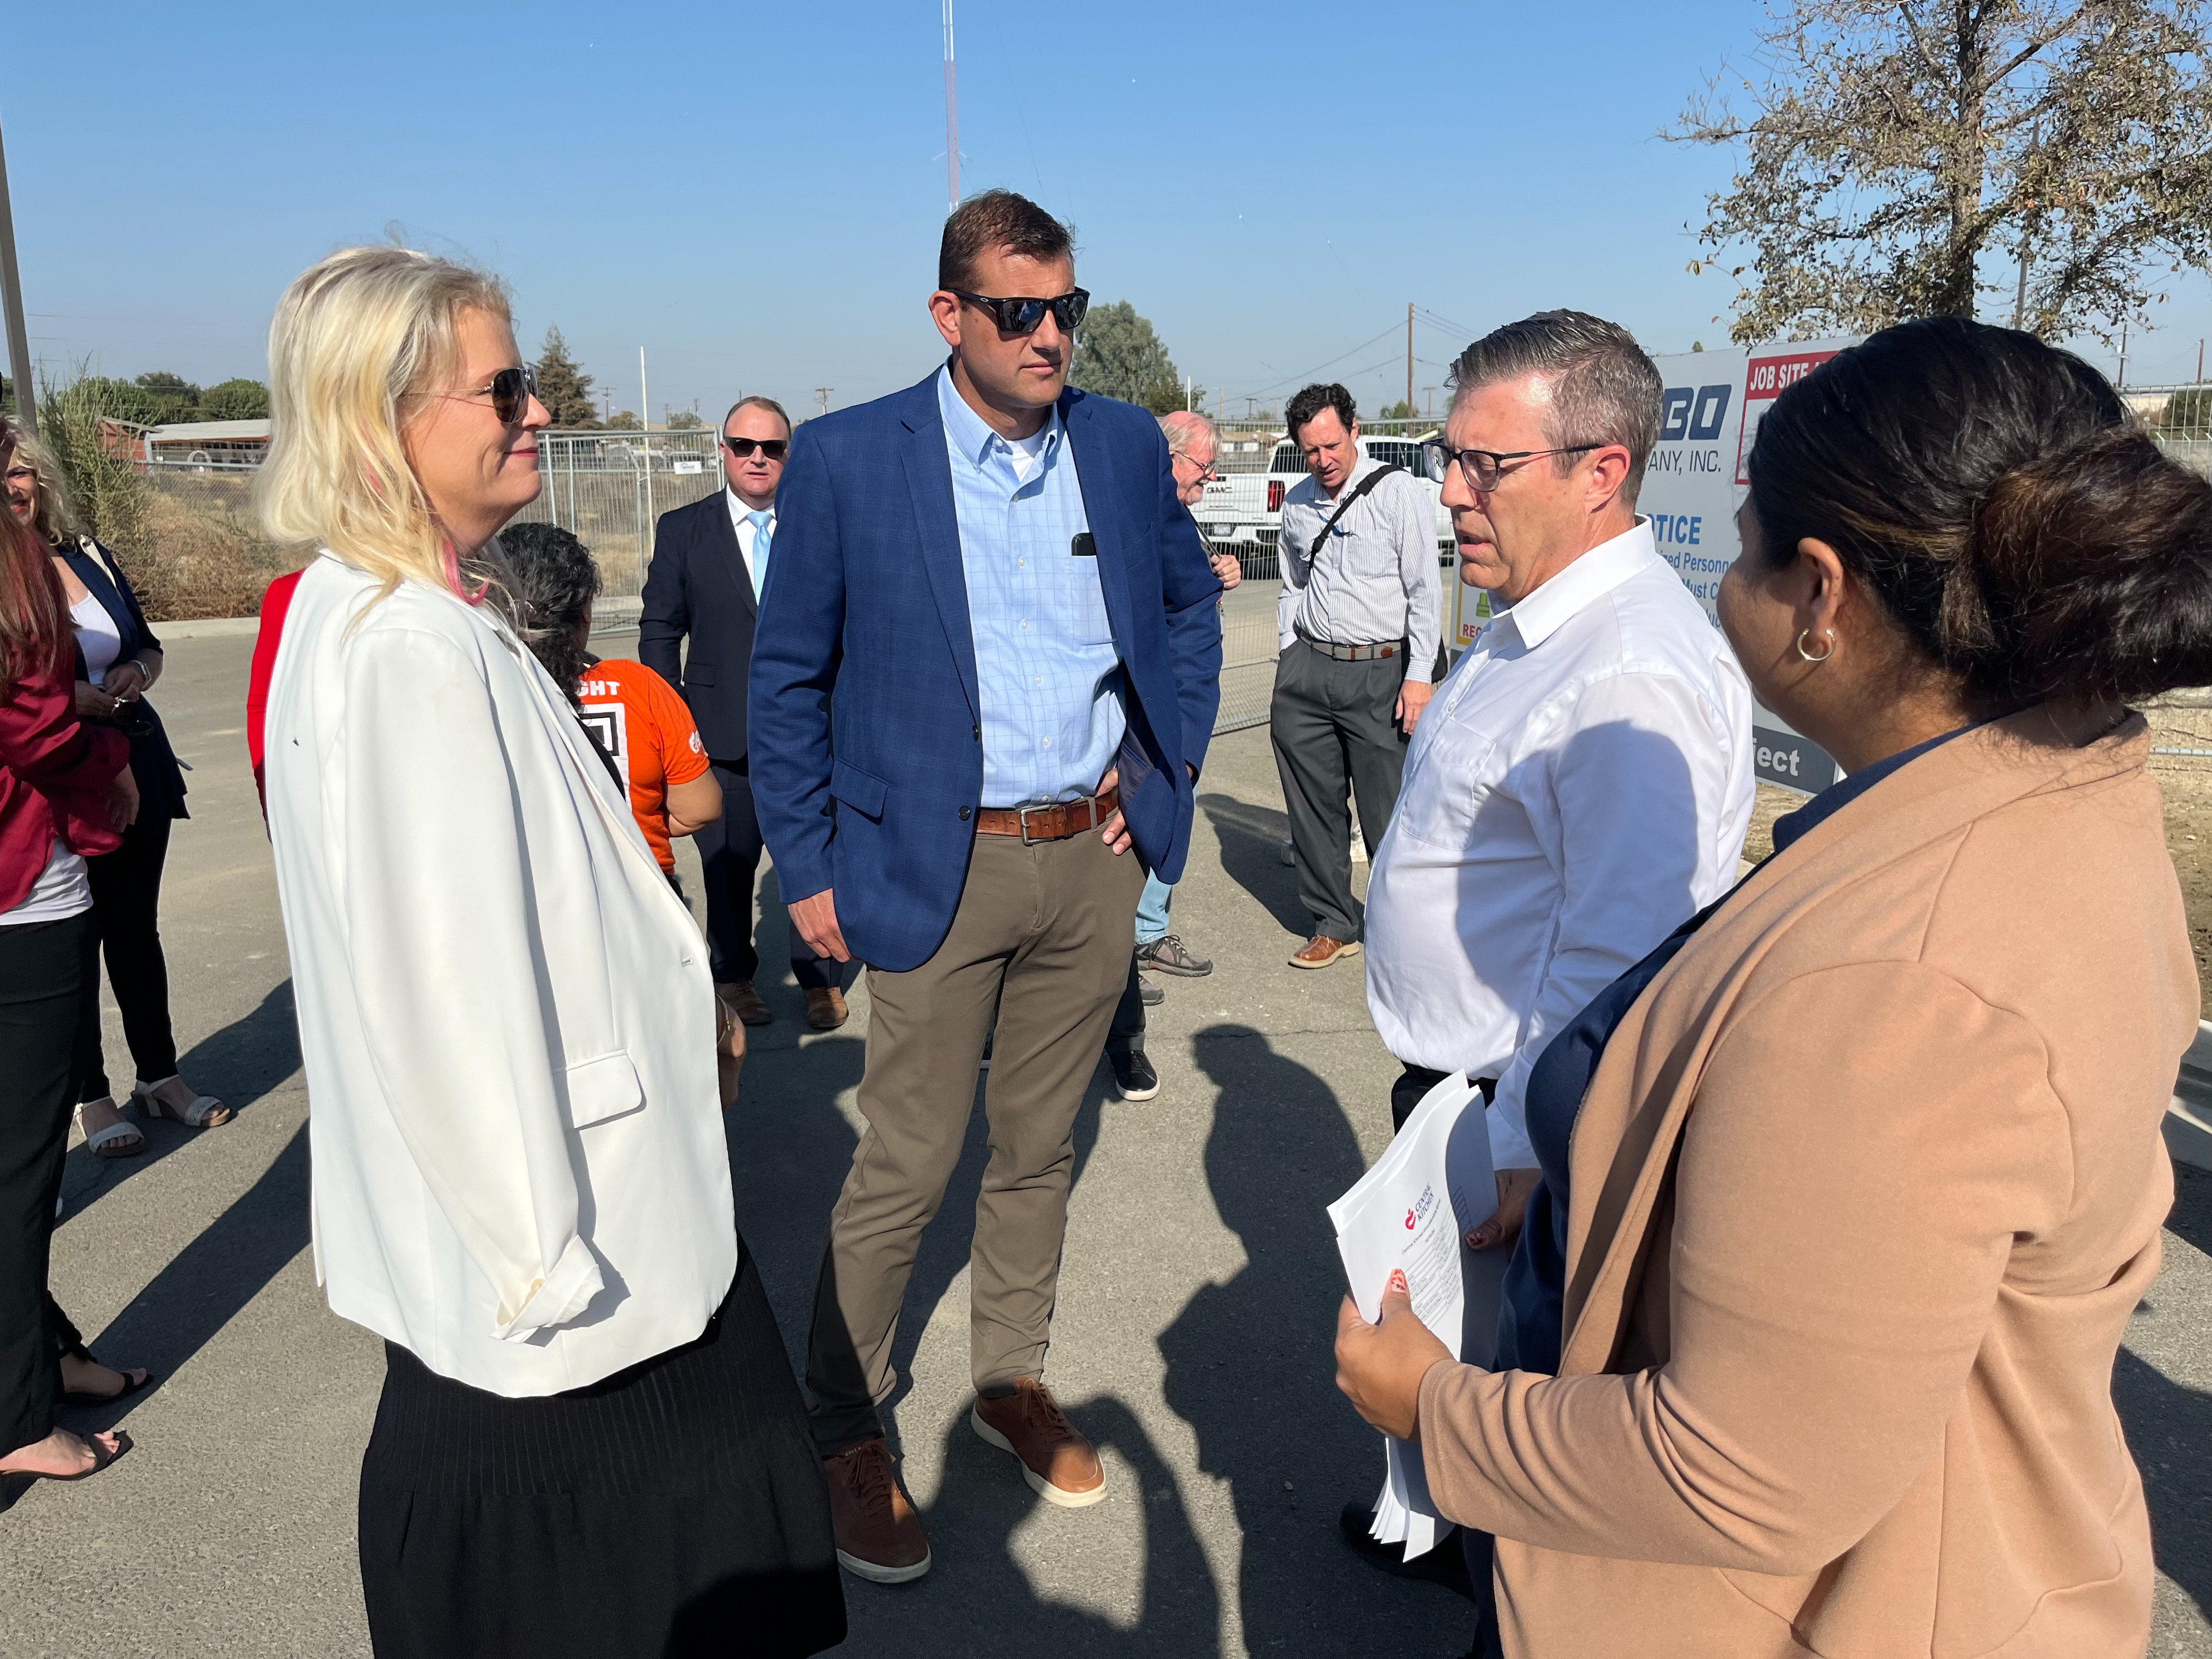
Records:
M1360 803L1360 836L1374 858L1405 781L1405 732L1396 712L1402 684L1402 653L1336 661L1294 639L1274 664L1267 734L1298 854L1298 902L1312 911L1314 933L1347 945L1360 938L1365 911L1352 896L1345 799Z

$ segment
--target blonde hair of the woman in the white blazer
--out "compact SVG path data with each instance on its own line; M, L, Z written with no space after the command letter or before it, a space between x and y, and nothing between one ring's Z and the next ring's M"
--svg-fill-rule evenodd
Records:
M418 577L484 597L400 445L409 405L460 369L465 312L513 321L498 276L414 248L345 248L294 279L270 321L270 453L254 478L274 540L327 546L385 595Z

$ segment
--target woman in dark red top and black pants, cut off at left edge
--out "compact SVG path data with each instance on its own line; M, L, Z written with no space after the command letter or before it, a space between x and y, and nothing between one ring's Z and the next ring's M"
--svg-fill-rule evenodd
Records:
M0 420L0 471L15 429ZM137 816L131 743L75 712L69 606L46 549L0 513L0 1475L77 1480L131 1449L53 1427L60 1398L146 1385L77 1343L46 1294L100 927L84 854Z

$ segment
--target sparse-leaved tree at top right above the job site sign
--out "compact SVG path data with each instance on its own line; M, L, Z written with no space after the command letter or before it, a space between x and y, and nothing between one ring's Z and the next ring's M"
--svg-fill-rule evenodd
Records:
M2046 338L2110 341L2154 265L2212 257L2205 0L1770 0L1756 40L1761 77L1723 71L1666 133L1741 159L1705 201L1717 257L1690 261L1736 279L1736 341L1991 294Z

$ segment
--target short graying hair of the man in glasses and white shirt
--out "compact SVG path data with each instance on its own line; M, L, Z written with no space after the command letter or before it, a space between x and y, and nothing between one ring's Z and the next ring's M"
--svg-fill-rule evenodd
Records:
M1619 323L1588 312L1537 312L1517 323L1491 330L1460 352L1451 365L1453 396L1500 380L1540 374L1551 385L1551 414L1544 420L1544 442L1555 449L1571 445L1624 445L1628 478L1621 480L1621 502L1637 504L1644 487L1644 462L1659 442L1659 369ZM1553 456L1553 467L1566 473L1579 456Z

